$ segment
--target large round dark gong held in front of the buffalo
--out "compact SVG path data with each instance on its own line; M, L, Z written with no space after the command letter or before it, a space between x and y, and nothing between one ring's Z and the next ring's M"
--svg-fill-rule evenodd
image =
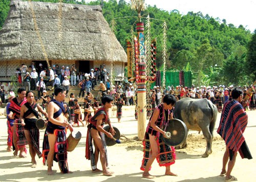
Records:
M178 146L182 144L187 137L187 126L179 119L170 119L165 132L170 133L170 138L164 138L161 134L163 142L170 146Z

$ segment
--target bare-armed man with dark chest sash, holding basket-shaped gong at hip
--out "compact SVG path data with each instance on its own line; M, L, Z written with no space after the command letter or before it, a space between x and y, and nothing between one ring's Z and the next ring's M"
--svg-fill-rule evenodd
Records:
M64 117L65 108L63 100L66 97L66 89L59 86L54 90L55 99L51 100L48 105L48 124L42 144L43 163L48 164L48 175L53 175L53 160L58 162L61 173L73 173L68 167L67 153L67 127L73 132L73 127Z

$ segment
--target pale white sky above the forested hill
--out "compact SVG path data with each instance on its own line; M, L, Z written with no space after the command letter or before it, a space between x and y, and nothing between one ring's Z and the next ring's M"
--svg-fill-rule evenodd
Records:
M130 3L131 0L125 0ZM90 0L86 0L90 2ZM117 0L119 2L119 0ZM172 11L178 10L180 14L187 12L202 12L213 18L226 19L226 23L232 23L235 27L240 24L251 33L256 29L256 1L255 0L145 0L146 5Z

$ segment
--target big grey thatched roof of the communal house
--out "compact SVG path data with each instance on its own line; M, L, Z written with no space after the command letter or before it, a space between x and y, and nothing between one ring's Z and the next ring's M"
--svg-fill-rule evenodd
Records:
M100 6L11 1L0 30L0 61L46 60L35 31L31 6L49 60L121 61L127 57ZM62 31L58 31L61 30ZM62 39L58 38L62 35Z

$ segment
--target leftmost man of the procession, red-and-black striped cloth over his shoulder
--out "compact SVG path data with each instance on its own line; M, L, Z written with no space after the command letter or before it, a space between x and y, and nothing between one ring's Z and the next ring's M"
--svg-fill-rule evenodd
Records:
M17 156L19 150L19 157L24 158L26 153L26 144L27 140L24 134L24 127L20 124L19 116L20 116L20 108L24 103L27 102L26 99L26 89L24 87L20 87L17 90L18 97L12 99L10 107L9 107L9 115L10 119L14 119L13 125L13 155Z

